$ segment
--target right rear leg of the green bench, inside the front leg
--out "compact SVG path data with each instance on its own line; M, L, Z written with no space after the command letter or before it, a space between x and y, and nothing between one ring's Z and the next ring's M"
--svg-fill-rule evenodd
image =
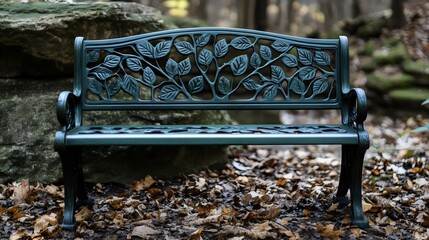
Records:
M342 145L340 182L338 183L337 194L334 197L334 201L339 202L342 206L347 206L350 203L346 194L350 189L350 162L353 160L354 155L355 148L352 145Z

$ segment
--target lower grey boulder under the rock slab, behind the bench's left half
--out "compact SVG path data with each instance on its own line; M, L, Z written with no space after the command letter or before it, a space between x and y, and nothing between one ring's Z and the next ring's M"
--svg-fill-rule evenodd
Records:
M0 88L0 183L30 178L54 182L61 177L53 137L59 124L57 95L71 89L71 81L3 79ZM224 124L224 111L95 112L85 123ZM202 168L217 168L227 160L224 146L92 147L84 151L86 179L91 182L130 183L150 174L170 178Z

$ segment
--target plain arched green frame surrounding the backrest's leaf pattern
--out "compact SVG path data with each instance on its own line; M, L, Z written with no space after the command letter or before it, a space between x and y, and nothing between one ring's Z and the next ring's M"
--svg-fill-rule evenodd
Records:
M164 55L165 57L169 57L169 55L171 54L170 51L172 49L174 49L175 47L178 48L177 45L175 45L176 43L179 42L178 39L183 38L184 36L192 36L191 38L193 38L194 42L198 43L198 39L197 41L195 41L195 38L199 38L201 36L203 36L204 34L208 34L210 38L214 39L214 43L212 43L211 47L212 47L212 53L209 53L208 56L213 58L213 53L214 54L222 54L219 53L219 51L216 53L214 50L214 48L216 46L215 43L219 43L220 40L217 39L217 36L231 36L230 39L226 40L224 43L227 43L227 47L230 48L236 48L239 50L242 50L244 48L246 48L246 44L251 44L252 42L254 42L256 44L257 41L259 40L264 40L264 41L271 41L271 50L272 52L276 52L275 50L272 49L272 46L274 46L275 44L273 44L273 42L280 42L280 43L287 43L290 45L290 48L288 50L286 50L286 52L284 53L277 53L277 56L280 56L281 54L283 54L283 58L285 58L285 55L292 55L292 54L288 54L287 52L292 48L296 48L299 49L298 51L302 50L302 54L304 54L303 56L303 61L305 61L305 54L309 53L309 51L305 52L306 49L311 49L312 52L309 53L310 54L310 59L312 59L313 61L310 60L310 63L308 64L304 64L305 65L309 65L309 66L304 66L303 62L301 62L301 53L295 52L295 61L299 61L297 62L298 66L297 69L293 74L295 76L295 78L301 78L301 73L304 73L303 68L307 68L310 70L314 70L313 72L310 71L306 71L305 73L308 73L308 75L312 75L313 78L309 79L313 81L313 89L314 89L314 82L320 80L320 78L323 78L324 75L322 76L314 76L316 71L323 71L320 70L321 68L319 66L315 66L316 64L316 60L315 58L319 59L320 61L323 61L323 57L326 57L327 54L324 54L325 50L329 50L329 51L333 51L334 53L334 60L332 62L334 62L335 65L335 69L332 69L332 72L328 72L328 75L334 79L334 84L335 84L335 99L305 99L305 98L301 98L301 99L283 99L281 101L276 100L276 99L271 99L271 100L267 100L267 99L252 99L252 100L231 100L228 98L217 98L215 100L198 100L198 101L194 101L194 100L177 100L177 99L164 99L164 100L160 100L158 99L149 99L147 101L136 101L136 100L124 100L124 101L111 101L110 99L100 99L97 101L91 101L88 99L87 94L88 94L88 90L90 88L90 81L94 81L94 74L92 72L91 75L91 68L88 67L88 65L90 64L91 60L89 59L90 57L88 57L89 54L91 53L96 53L96 51L99 51L100 49L108 49L109 51L115 51L116 48L123 48L124 46L136 46L136 44L139 44L139 47L141 47L144 44L150 44L152 45L152 48L155 49L158 44L156 41L157 39L164 39L163 41L165 41L165 39L168 38L172 38L171 42L169 43L169 48L168 53L159 53ZM195 37L194 37L195 35ZM246 40L247 39L247 40ZM249 41L250 39L250 41ZM240 43L240 41L242 41ZM168 41L167 41L168 42ZM159 43L159 42L158 42ZM162 42L161 42L162 43ZM207 44L207 43L206 43ZM241 44L241 45L240 45ZM284 44L282 46L277 46L278 48L285 48L287 47L287 44ZM162 44L161 44L162 45ZM165 46L166 44L164 44ZM220 45L220 44L218 44ZM233 46L234 45L234 46ZM208 46L210 46L210 44L208 44ZM149 46L150 47L150 46ZM162 47L162 46L161 46ZM219 47L219 46L218 46ZM222 46L221 46L222 47ZM219 49L221 48L219 47ZM225 46L223 46L225 47ZM248 46L247 46L248 47ZM135 49L136 47L134 47ZM197 47L195 47L194 49L194 55L200 55L202 54L202 51L205 51L204 49L206 48L205 46L201 46L198 47L198 50L196 50ZM240 49L242 48L242 49ZM246 58L246 64L247 66L247 70L251 69L252 65L254 68L257 66L256 64L263 64L263 61L265 61L267 56L263 56L263 49L265 48L265 50L267 49L267 47L260 47L258 46L257 49L254 52L257 52L256 56L257 58L259 58L259 63L251 63L252 61L252 57L254 54L251 54L251 52L247 52L246 54L248 55L248 57L244 57ZM152 49L152 50L153 50ZM158 49L159 50L159 49ZM183 49L182 49L183 50ZM142 51L145 51L144 49L138 50L140 53ZM161 52L161 50L159 50L159 52ZM209 51L205 51L205 53L208 53ZM146 54L146 56L142 56L143 58L147 57L147 54L151 54L151 53L144 53ZM153 53L152 53L153 54ZM211 54L211 56L210 56ZM271 54L271 53L270 53ZM244 56L244 55L241 55ZM152 56L153 57L153 56ZM200 56L199 56L200 57ZM98 67L98 69L105 69L106 68L106 59L109 58L111 59L111 57L109 57L109 55L107 55L107 57L105 56L104 58L104 63L99 63L99 66L102 67ZM123 59L124 57L122 57ZM264 59L262 59L264 58ZM329 57L327 57L329 59ZM101 60L102 57L100 57ZM121 59L121 60L122 60ZM299 59L299 60L298 60ZM320 60L321 59L321 60ZM125 64L125 60L124 61L124 65ZM228 62L229 64L229 68L232 69L232 65L233 64L239 64L238 61L236 60L241 60L238 59L238 57L235 57L235 59L230 60ZM253 59L254 60L254 59ZM128 61L128 60L127 60ZM195 62L199 62L200 60L197 58L197 56L195 56ZM283 61L286 64L286 61ZM168 62L168 61L167 61ZM172 61L175 62L175 61ZM177 62L176 61L176 67L177 67ZM262 63L261 63L262 62ZM268 60L266 61L268 62ZM318 63L319 63L318 62ZM314 64L313 64L314 63ZM104 64L104 65L103 65ZM107 65L109 65L110 63L107 62ZM115 63L118 64L118 63ZM122 63L119 63L122 64ZM163 63L165 64L165 63ZM288 63L290 64L290 63ZM255 66L256 65L256 66ZM98 66L98 65L97 65ZM118 65L119 66L119 65ZM159 66L159 64L158 64ZM167 67L167 64L165 65ZM293 63L292 63L293 66ZM174 64L173 64L174 67ZM179 66L180 67L180 66ZM192 66L194 67L194 66ZM283 66L284 67L284 66ZM330 67L330 66L329 66ZM156 66L152 66L152 68L156 68ZM161 67L162 68L162 67ZM195 68L195 67L194 67ZM276 68L276 67L275 67ZM317 70L317 69L318 70ZM276 68L277 69L277 68ZM316 69L316 70L315 70ZM145 67L141 67L140 72L142 72L142 75L146 74L144 72ZM163 69L161 69L162 71ZM200 69L201 70L201 69ZM234 72L235 70L235 72ZM271 69L271 76L273 76L273 71L275 69ZM343 93L348 92L348 90L350 89L350 85L349 85L349 56L348 56L348 40L346 37L340 36L338 39L310 39L310 38L301 38L301 37L293 37L293 36L287 36L287 35L282 35L282 34L276 34L276 33L269 33L269 32L262 32L262 31L255 31L255 30L245 30L245 29L236 29L236 28L190 28L190 29L175 29L175 30L167 30L167 31L161 31L161 32L154 32L154 33L148 33L148 34L141 34L141 35L135 35L135 36L130 36L130 37L123 37L123 38L116 38L116 39L105 39L105 40L84 40L84 38L82 37L77 37L75 40L75 69L74 69L74 94L77 96L80 96L80 108L82 110L150 110L150 109L156 109L156 110L160 110L160 109L341 109L341 105L342 105L342 95ZM155 70L156 71L156 70ZM177 69L176 69L177 71ZM206 71L209 71L208 69L206 69ZM238 72L240 72L241 70L239 69L239 67L236 67L235 69L232 70L233 74L237 74ZM299 72L301 71L301 72ZM153 71L152 71L153 73ZM240 72L242 73L242 72ZM284 73L284 72L283 72ZM176 72L177 74L177 72ZM268 73L269 74L269 73ZM179 74L177 74L179 75ZM304 75L304 74L302 74ZM320 74L319 74L320 75ZM99 76L99 74L97 75ZM130 75L131 76L131 75ZM142 76L141 78L143 78L144 76ZM177 79L177 77L173 76L174 78ZM270 76L268 76L269 78ZM174 79L171 78L171 79ZM286 79L287 77L283 76L283 81L287 82L288 84L288 88L289 85L292 85L292 82L294 81L294 79L292 79L292 77L290 77L290 79ZM303 77L305 78L305 76ZM171 80L170 79L170 80ZM304 79L304 80L308 80L308 79ZM304 80L302 80L303 82L305 82ZM121 79L121 81L124 81L124 79ZM219 81L219 76L217 76L217 81ZM163 83L164 84L164 83ZM296 84L295 84L296 85ZM320 84L319 84L320 85ZM319 86L318 85L318 86ZM94 87L93 87L94 88ZM123 87L122 87L123 88ZM161 87L160 87L161 88ZM251 87L250 87L251 88ZM267 91L267 87L264 88L264 91ZM276 90L277 91L277 90ZM158 92L159 93L159 92ZM276 92L277 94L277 92Z

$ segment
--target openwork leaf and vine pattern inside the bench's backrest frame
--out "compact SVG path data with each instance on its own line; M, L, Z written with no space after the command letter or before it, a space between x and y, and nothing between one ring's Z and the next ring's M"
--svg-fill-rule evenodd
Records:
M336 99L335 53L298 47L286 39L203 32L142 39L129 49L134 52L86 52L92 64L86 78L90 93L110 101L121 91L136 101ZM150 89L149 100L139 99L141 87ZM212 100L196 97L206 90ZM248 95L239 96L239 90ZM315 98L322 94L327 97Z

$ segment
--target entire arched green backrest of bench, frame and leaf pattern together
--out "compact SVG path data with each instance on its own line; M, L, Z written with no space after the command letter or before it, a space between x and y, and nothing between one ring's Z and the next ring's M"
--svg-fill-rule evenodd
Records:
M190 28L75 41L83 110L339 109L348 41Z

